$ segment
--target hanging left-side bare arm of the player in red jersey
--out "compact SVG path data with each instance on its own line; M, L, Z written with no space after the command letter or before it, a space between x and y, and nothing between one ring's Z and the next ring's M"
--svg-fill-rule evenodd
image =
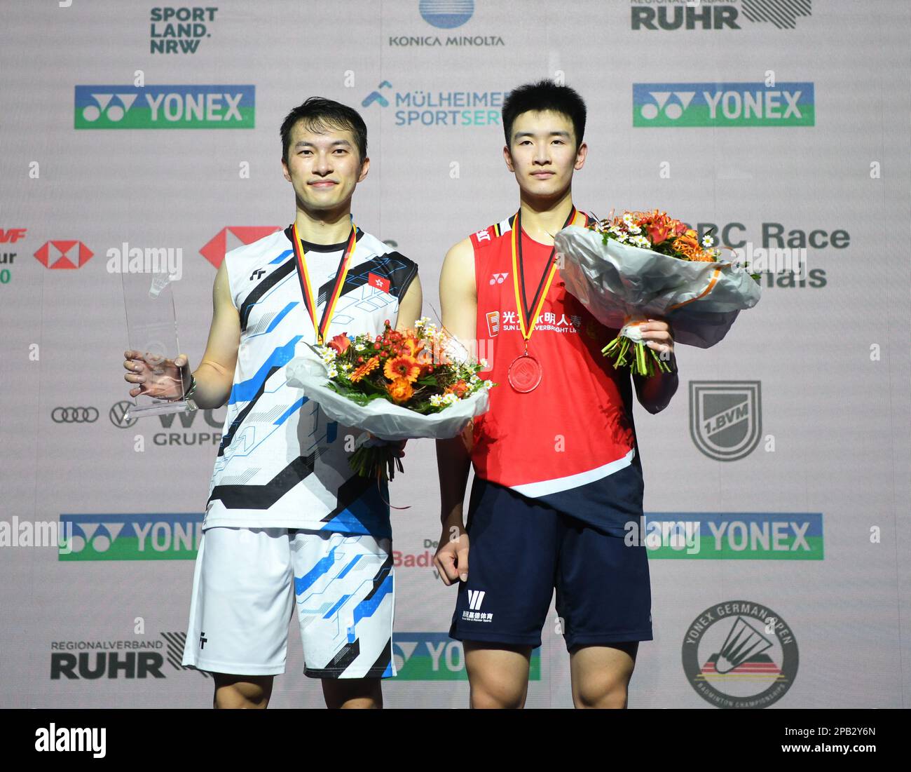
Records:
M471 239L458 242L446 252L440 273L440 303L446 330L469 351L476 352L477 284ZM460 578L464 582L468 575L463 508L471 457L462 437L436 440L436 467L440 476L443 533L434 562L440 578L449 585Z

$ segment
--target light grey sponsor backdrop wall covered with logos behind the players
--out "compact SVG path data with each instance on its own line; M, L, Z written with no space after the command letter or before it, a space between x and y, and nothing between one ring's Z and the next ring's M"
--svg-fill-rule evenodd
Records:
M660 531L630 706L911 705L909 22L899 0L4 3L0 705L210 705L179 658L224 408L118 426L108 251L180 256L196 366L224 253L292 221L278 129L319 94L362 111L357 221L419 263L433 316L446 249L517 207L499 108L537 77L588 101L581 208L805 249L720 345L680 348L670 407L637 406ZM433 444L404 463L385 699L462 706ZM273 705L322 705L291 636ZM528 705L570 706L568 679L551 609Z

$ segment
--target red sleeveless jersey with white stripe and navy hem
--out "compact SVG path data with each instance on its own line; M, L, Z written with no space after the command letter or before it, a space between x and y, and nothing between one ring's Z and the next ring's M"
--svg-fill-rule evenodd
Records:
M478 355L488 365L481 375L498 384L489 392L490 410L475 419L475 472L622 536L626 522L639 525L642 476L630 372L601 354L617 330L589 314L556 273L528 340L540 383L526 393L510 386L509 365L525 351L512 262L515 218L471 235ZM575 223L588 222L579 212ZM553 247L520 236L531 302Z

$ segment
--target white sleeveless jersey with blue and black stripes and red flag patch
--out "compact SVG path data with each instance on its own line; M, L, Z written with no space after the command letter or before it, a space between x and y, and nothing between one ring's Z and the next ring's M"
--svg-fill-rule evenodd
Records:
M322 319L346 244L304 242ZM351 469L345 439L360 429L328 420L285 373L309 352L316 333L303 303L292 230L277 231L225 255L241 344L228 415L209 489L203 529L301 528L391 536L388 491ZM326 333L380 335L395 326L417 265L358 229L342 293ZM409 324L411 320L409 320ZM352 447L351 445L348 446Z

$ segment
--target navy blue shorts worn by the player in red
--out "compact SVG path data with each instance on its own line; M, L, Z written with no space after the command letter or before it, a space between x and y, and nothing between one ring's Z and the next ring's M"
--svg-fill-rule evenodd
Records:
M459 582L449 635L458 641L541 645L551 629L567 649L650 641L644 545L627 546L515 490L475 477L468 504L468 581Z

